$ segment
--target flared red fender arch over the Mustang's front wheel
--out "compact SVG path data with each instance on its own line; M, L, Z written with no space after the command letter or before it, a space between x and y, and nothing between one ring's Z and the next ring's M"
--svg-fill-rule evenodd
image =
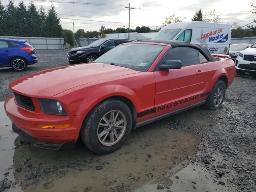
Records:
M112 96L126 97L132 101L136 108L136 112L140 110L140 102L132 89L123 85L109 84L103 85L90 92L80 104L77 114L87 115L99 102Z

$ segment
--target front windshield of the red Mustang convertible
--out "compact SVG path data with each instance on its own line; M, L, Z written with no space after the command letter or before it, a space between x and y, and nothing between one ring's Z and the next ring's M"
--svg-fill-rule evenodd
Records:
M165 46L152 44L125 44L106 52L95 60L146 72Z

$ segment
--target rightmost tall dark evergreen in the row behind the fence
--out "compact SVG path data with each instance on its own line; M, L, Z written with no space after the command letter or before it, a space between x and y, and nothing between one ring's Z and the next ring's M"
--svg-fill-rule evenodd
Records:
M46 16L45 29L48 37L63 36L62 26L60 25L60 18L58 18L57 12L53 4L49 8L48 15Z

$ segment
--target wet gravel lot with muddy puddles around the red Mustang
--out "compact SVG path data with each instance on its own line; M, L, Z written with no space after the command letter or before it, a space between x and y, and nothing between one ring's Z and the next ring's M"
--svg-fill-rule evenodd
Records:
M57 59L41 54L44 66L24 74L68 64L64 52ZM20 75L0 69L0 101ZM98 155L80 142L62 151L30 146L11 132L0 102L0 191L256 192L255 117L256 78L246 74L235 78L222 108L198 107L143 126L116 152Z

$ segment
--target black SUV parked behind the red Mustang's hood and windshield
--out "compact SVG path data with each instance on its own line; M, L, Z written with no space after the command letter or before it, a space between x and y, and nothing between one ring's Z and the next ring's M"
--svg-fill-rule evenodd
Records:
M96 58L122 43L133 42L132 39L99 39L86 47L77 47L67 53L70 64L92 63Z

